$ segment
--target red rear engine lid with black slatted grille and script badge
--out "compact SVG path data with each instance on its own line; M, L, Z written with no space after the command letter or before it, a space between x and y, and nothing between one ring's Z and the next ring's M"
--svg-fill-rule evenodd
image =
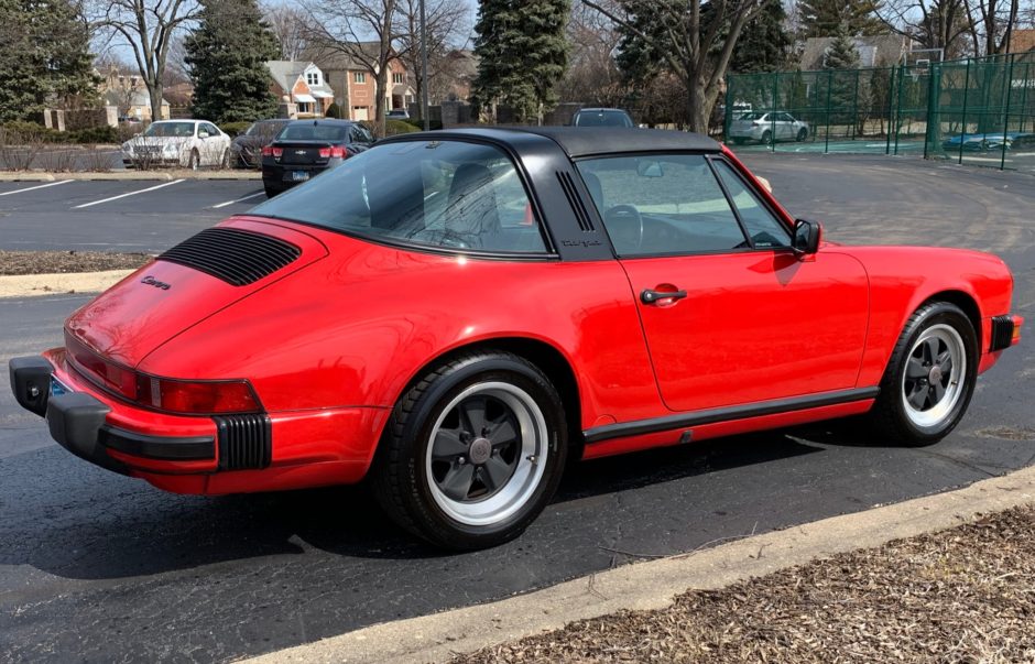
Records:
M327 255L297 228L232 218L188 238L77 311L65 334L124 367ZM261 315L261 312L257 312Z

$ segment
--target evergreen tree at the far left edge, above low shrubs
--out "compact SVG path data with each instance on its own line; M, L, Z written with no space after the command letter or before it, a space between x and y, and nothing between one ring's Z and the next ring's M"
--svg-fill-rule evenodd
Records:
M89 32L68 0L0 0L0 121L92 101Z

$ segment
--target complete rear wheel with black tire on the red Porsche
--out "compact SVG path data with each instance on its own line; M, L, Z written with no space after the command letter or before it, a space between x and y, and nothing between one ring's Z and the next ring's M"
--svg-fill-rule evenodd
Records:
M403 529L470 551L520 535L556 491L566 456L549 379L521 357L487 350L442 364L400 398L371 480Z

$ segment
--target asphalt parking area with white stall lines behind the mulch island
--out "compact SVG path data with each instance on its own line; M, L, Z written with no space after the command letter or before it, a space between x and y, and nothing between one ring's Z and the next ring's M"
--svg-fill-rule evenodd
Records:
M0 183L0 249L159 253L265 200L260 181Z

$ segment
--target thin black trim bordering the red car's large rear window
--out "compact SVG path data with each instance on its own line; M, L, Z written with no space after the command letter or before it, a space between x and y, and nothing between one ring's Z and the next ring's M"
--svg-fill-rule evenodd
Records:
M286 129L286 128L285 128ZM511 149L510 145L503 142L493 141L491 139L484 140L480 137L448 137L438 139L437 137L428 137L423 133L414 133L413 135L403 135L403 137L393 137L391 142L378 143L371 145L370 150L374 150L381 146L390 146L397 143L434 143L434 142L444 142L444 141L455 141L459 143L475 143L479 145L489 145L490 148L495 148L497 150L503 152L511 163L514 166L514 170L518 172L518 178L521 181L521 186L525 192L525 196L529 198L529 203L532 205L532 216L535 218L536 224L540 228L540 235L543 237L543 242L546 246L546 251L484 251L480 249L459 249L453 247L437 247L434 244L418 244L406 241L395 241L392 238L385 238L384 236L371 237L362 232L357 232L355 230L346 230L342 228L331 228L323 224L317 224L315 221L305 221L303 219L293 219L291 217L277 217L273 215L259 215L249 211L249 215L266 218L266 219L281 219L283 221L291 221L293 224L302 224L309 226L312 228L319 228L323 230L328 230L331 232L338 232L344 236L362 240L364 242L373 242L374 244L382 244L385 247L391 247L393 249L404 249L408 251L417 251L420 253L432 253L436 255L456 255L465 257L470 259L483 259L483 260L493 260L493 261L511 261L511 262L555 262L560 260L560 252L557 251L557 244L554 241L549 225L545 222L545 215L542 213L542 206L538 202L538 198L535 196L534 189L530 185L531 177L525 172L524 162L521 160L516 151ZM363 151L363 153L369 152L370 150ZM531 194L530 194L531 192ZM608 238L610 242L610 238ZM613 250L612 250L613 251Z

